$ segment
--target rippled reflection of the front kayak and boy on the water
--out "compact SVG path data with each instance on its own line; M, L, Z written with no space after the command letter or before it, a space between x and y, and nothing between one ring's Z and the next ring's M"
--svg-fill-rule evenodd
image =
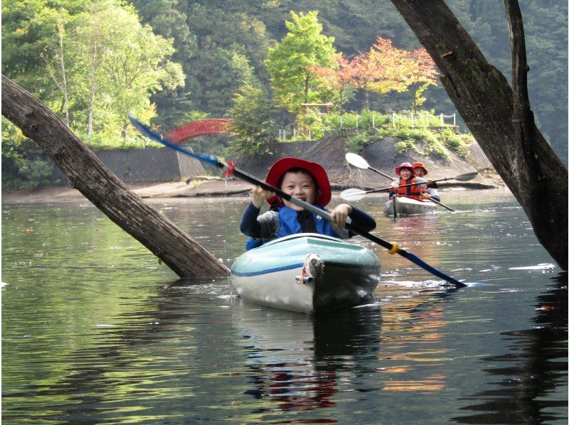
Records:
M252 388L245 393L267 401L255 413L335 407L334 394L355 384L354 372L373 371L381 332L377 306L311 318L242 304L233 317L248 352ZM326 413L309 417L335 421Z

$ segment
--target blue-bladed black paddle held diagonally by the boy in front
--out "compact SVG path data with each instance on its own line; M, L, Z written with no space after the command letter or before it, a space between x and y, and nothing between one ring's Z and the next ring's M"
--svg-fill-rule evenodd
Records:
M294 205L298 205L299 207L304 208L304 210L313 212L313 213L319 215L320 217L324 218L325 220L331 221L331 217L330 217L329 212L321 210L320 208L317 208L314 205L306 203L303 200L300 200L298 198L293 198L291 195L283 192L279 188L275 188L275 186L272 186L272 185L266 183L265 181L260 180L260 178L257 178L255 176L251 176L248 173L245 173L245 171L240 170L239 168L235 167L231 161L225 162L225 161L221 161L220 159L218 159L212 155L196 154L195 152L188 151L188 149L184 149L181 146L174 144L173 142L169 141L168 139L164 139L164 137L160 136L159 134L154 133L154 131L152 131L149 127L147 127L146 125L139 122L137 119L135 119L133 117L129 117L129 119L132 122L132 125L134 125L134 127L136 127L136 129L138 129L138 131L140 131L144 136L147 136L149 139L157 141L158 143L163 144L164 146L168 146L169 148L174 149L176 151L179 151L182 154L186 154L188 156L196 158L199 161L203 161L203 162L208 163L210 165L221 168L221 169L223 169L225 176L232 176L233 175L233 176L240 178L241 180L247 181L247 182L252 183L254 185L259 185L265 190L270 190L271 192L274 192L280 198L285 199L285 200L289 201L290 203L293 203ZM379 237L371 235L371 233L363 232L362 230L358 230L357 226L354 224L346 223L346 228L348 230L350 230L351 232L355 233L356 235L360 235L362 237L365 237L367 240L371 240L371 242L375 242L376 244L380 245L381 247L384 247L385 249L388 250L388 252L390 254L397 253L401 257L405 257L410 262L417 264L422 269L425 269L426 271L429 271L430 273L434 274L435 276L440 277L441 279L444 279L445 281L449 282L450 284L457 286L457 288L462 288L463 286L467 286L466 284L463 284L461 281L457 281L457 279L454 279L451 276L448 276L447 274L443 273L442 271L435 269L435 267L432 267L429 264L425 263L424 261L422 261L422 259L417 257L415 254L412 254L408 251L405 251L405 249L400 248L399 244L397 242L389 243L385 240L380 239Z

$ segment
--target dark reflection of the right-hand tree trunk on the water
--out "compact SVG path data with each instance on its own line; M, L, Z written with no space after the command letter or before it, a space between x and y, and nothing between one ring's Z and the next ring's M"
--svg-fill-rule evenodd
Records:
M509 353L482 360L491 367L487 385L467 399L483 399L462 410L481 412L456 416L464 424L542 424L559 420L567 399L547 398L567 387L567 273L551 279L553 286L536 300L535 326L501 333L509 341ZM483 368L484 365L481 365ZM498 378L496 380L496 378Z

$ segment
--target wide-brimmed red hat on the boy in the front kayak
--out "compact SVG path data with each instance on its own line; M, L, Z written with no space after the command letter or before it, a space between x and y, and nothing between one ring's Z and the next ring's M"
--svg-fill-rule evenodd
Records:
M321 207L328 205L330 199L332 198L330 181L328 180L328 175L326 174L324 168L315 162L292 157L280 158L279 161L272 164L269 172L267 173L267 178L265 178L265 181L277 188L281 176L287 171L292 170L292 168L303 168L312 174L320 190L320 195L318 198L316 198L316 200L314 200L314 203L316 205L320 205ZM275 198L276 197L269 198L267 199L267 202L272 205L272 203L276 200ZM279 199L278 201L278 205L283 205L282 200Z

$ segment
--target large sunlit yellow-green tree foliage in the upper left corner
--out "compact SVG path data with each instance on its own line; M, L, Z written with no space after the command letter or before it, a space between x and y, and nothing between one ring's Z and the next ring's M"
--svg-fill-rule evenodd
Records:
M124 135L128 114L155 114L151 94L184 85L180 65L169 60L172 41L142 26L132 6L7 0L2 7L4 72L74 129Z

